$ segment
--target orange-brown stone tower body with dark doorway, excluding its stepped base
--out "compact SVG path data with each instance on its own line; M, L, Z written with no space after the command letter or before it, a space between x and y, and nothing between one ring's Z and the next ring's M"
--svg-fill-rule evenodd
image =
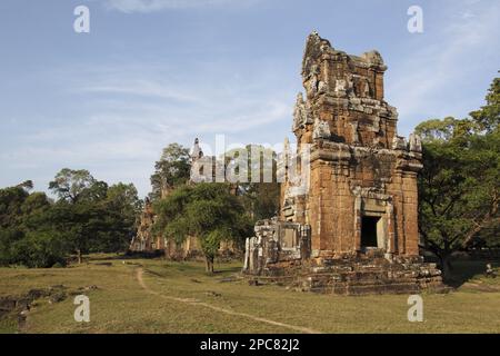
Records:
M313 256L419 254L421 146L414 135L409 145L397 136L397 110L383 100L386 69L377 51L350 56L316 32L308 37L306 95L297 98L292 129L298 144L311 145L310 184L286 206L302 204L292 220L311 226Z

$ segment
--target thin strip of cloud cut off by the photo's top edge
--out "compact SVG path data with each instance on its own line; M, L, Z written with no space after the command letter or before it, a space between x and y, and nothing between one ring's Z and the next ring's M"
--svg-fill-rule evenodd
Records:
M248 6L258 0L107 0L109 9L126 13L154 12L168 9L189 9L201 7Z

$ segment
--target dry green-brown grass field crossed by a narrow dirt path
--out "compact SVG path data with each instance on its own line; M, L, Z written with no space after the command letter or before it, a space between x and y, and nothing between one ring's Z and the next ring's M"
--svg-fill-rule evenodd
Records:
M123 263L124 261L124 263ZM106 265L106 264L110 265ZM408 296L330 296L249 286L239 264L94 256L69 268L0 268L0 296L64 285L90 298L90 323L77 323L73 296L34 301L24 327L14 316L0 319L0 333L499 333L500 278L473 276L484 264L467 263L471 274L456 291L423 295L422 323L407 318Z

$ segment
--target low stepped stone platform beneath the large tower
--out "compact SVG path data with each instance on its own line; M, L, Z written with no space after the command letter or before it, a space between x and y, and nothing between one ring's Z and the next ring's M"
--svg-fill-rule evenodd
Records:
M259 275L243 274L260 284L338 295L443 293L441 271L421 258L388 260L358 257L311 259L268 265Z

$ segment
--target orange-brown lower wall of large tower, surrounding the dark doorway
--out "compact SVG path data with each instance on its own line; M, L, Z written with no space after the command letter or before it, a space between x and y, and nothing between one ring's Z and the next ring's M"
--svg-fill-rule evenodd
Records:
M403 170L399 166L408 162L408 151L350 148L338 142L313 145L312 150L307 222L312 227L313 250L323 255L359 250L360 215L371 207L369 211L378 211L391 222L387 226L391 240L386 245L390 253L418 255L416 170L421 166L417 158L411 169Z

